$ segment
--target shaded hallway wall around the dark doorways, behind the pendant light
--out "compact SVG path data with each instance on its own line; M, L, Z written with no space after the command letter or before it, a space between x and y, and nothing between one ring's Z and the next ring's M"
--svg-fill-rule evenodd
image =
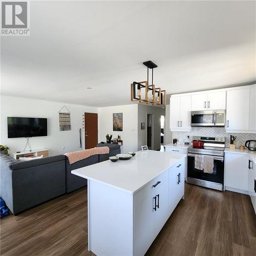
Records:
M165 115L165 110L155 106L147 106L138 104L138 150L142 145L146 145L146 124L147 114L154 114L154 148L152 150L160 150L161 146L161 115ZM141 130L141 123L145 123L145 130Z

